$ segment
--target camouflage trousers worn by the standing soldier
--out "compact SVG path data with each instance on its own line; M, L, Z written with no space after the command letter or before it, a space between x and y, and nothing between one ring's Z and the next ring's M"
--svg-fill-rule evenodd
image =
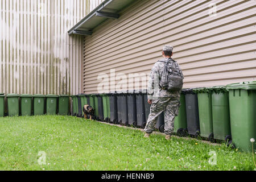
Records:
M174 119L179 113L179 107L179 97L157 98L152 100L150 115L148 115L144 131L146 133L152 133L155 129L158 116L164 112L164 133L172 135L172 133L174 133Z

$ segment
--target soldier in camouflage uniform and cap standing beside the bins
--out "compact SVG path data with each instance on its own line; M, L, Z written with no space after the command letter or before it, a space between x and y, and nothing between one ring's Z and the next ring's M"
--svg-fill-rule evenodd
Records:
M154 131L156 121L162 111L164 111L164 133L166 134L166 139L170 139L172 133L174 132L174 119L177 116L180 107L180 92L183 85L183 74L179 64L171 59L171 56L173 55L172 51L173 47L164 46L162 51L164 59L156 62L154 67L151 69L147 93L148 104L150 104L151 107L150 115L148 116L147 124L144 129L144 137L146 138L150 137L150 134ZM164 69L167 62L168 64L176 65L177 72L180 73L179 75L182 78L182 83L180 82L180 84L182 84L181 89L171 91L159 86L159 83L162 81L161 79L164 76ZM169 85L170 84L172 83L169 83Z

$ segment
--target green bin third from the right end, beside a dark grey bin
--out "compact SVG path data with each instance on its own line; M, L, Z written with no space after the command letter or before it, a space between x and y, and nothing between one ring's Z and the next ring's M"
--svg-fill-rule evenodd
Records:
M213 142L212 93L208 88L196 88L193 91L198 98L200 136Z

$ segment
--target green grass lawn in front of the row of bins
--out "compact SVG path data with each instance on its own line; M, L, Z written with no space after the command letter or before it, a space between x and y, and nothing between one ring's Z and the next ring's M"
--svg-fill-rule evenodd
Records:
M0 118L0 170L254 170L252 154L70 116ZM46 152L45 164L42 153ZM209 164L210 151L217 164Z

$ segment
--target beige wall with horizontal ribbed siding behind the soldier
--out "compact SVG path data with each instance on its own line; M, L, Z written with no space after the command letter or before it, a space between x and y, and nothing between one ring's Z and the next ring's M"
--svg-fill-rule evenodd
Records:
M85 93L110 69L150 73L164 44L174 46L184 88L255 80L255 12L256 1L137 1L85 37Z

